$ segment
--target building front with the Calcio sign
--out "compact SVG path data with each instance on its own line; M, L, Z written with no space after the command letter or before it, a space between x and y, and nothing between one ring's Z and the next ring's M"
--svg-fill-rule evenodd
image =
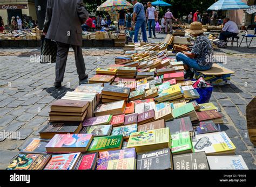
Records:
M11 17L20 18L29 17L37 20L34 0L0 0L0 16L2 16L4 25L10 23Z

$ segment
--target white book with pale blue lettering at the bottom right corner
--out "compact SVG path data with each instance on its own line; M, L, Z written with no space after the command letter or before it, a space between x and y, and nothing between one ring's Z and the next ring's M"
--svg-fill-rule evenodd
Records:
M207 160L211 169L248 169L241 155L207 156Z

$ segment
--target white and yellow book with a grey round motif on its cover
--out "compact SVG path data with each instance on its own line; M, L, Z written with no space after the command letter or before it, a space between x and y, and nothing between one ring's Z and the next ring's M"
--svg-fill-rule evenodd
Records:
M236 149L225 132L198 134L192 144L194 152L204 151L206 155L231 155Z

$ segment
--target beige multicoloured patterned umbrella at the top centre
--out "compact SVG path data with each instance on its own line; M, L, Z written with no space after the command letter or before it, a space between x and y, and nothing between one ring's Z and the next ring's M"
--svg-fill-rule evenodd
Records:
M107 0L99 5L98 11L116 11L122 9L130 9L133 5L125 0Z

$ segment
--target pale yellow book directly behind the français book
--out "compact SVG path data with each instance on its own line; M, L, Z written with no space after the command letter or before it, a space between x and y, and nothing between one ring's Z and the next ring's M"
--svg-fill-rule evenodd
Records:
M131 133L127 147L138 147L170 142L169 128Z

